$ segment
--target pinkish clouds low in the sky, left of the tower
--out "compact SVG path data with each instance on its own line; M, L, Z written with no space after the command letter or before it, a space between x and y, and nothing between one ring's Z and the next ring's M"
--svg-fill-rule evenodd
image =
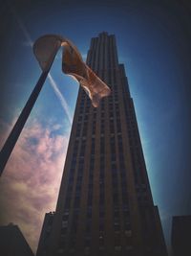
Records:
M55 209L63 172L69 135L58 134L59 128L44 128L33 120L23 129L0 180L0 224L18 224L33 251L45 213Z

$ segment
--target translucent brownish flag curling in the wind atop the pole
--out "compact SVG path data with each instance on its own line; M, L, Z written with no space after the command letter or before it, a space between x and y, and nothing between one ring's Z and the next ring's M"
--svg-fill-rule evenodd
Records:
M43 35L33 45L33 53L43 71L51 68L53 58L60 46L64 46L62 55L62 71L76 79L88 93L92 104L97 107L101 98L111 93L110 88L101 81L67 38L60 35Z

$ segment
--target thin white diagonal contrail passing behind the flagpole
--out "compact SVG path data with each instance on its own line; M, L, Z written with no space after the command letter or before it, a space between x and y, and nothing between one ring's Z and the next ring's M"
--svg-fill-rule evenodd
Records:
M13 13L13 15L15 17L15 19L16 19L18 25L19 25L19 28L21 29L21 31L25 35L27 41L29 42L30 46L32 47L33 46L32 37L29 34L29 32L27 31L25 25L23 24L22 20L18 16L17 12L12 8L12 6L11 6L11 12ZM49 81L52 85L53 92L57 96L58 100L60 101L60 104L62 105L62 107L63 107L63 109L64 109L64 111L67 115L67 118L68 118L68 121L69 121L70 125L72 125L73 116L71 114L70 107L67 104L67 101L66 101L65 97L61 94L56 82L53 80L53 76L50 73L48 75L48 79L49 79Z

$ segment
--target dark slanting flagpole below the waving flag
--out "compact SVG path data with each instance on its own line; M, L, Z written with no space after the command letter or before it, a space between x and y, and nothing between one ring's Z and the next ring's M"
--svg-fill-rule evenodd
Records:
M50 67L51 68L51 67ZM27 122L27 119L32 112L32 107L36 102L36 99L42 89L42 86L49 74L50 68L48 70L45 70L42 72L39 80L37 81L34 89L32 90L32 94L27 101L26 105L24 106L20 116L18 117L14 127L11 129L11 133L6 140L2 150L0 151L0 176L2 175L4 168L9 160L9 157L11 155L11 151L13 150L17 139L22 131L22 129L25 126L25 123Z

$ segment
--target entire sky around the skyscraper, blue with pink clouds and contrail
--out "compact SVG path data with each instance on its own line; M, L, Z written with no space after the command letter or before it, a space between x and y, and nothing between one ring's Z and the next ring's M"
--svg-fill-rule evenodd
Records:
M116 35L170 247L172 216L191 214L188 2L12 0L1 3L0 16L1 147L41 74L32 53L39 36L69 38L85 60L93 36L103 31ZM44 215L55 209L77 90L78 83L61 72L59 51L0 177L0 224L18 224L34 252Z

